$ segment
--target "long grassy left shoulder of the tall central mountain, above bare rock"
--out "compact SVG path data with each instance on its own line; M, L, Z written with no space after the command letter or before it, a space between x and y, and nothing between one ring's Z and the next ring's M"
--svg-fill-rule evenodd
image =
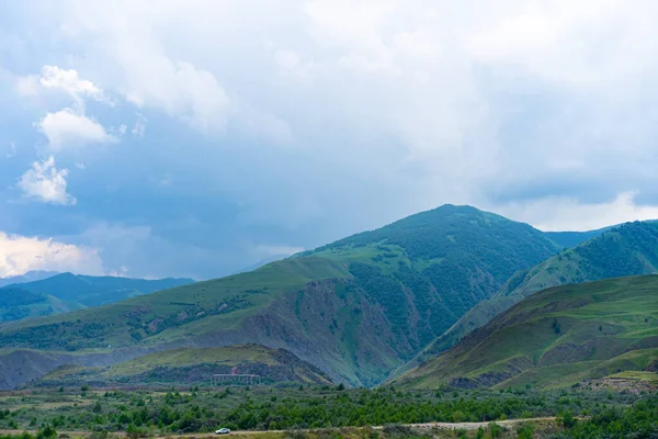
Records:
M131 346L147 337L160 340L195 323L236 327L286 291L318 279L348 277L339 263L320 258L274 262L250 273L164 290L116 304L60 316L16 322L0 329L4 347L77 350ZM203 331L201 328L200 331ZM185 335L193 335L194 330Z

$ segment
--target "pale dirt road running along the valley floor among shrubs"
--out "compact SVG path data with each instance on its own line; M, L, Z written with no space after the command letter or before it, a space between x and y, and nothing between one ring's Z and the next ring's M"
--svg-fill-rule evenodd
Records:
M546 417L546 418L527 418L527 419L506 419L506 420L496 420L495 423L502 426L502 427L510 427L513 426L515 424L521 424L521 423L537 423L537 421L552 421L555 420L554 417ZM432 428L439 428L442 430L456 430L456 429L464 429L464 430L477 430L480 427L485 427L487 428L487 426L490 423L427 423L427 424L405 424L405 427L410 427L410 428L418 428L418 429L432 429ZM356 428L356 427L345 427L345 428ZM371 427L375 430L382 430L384 428L384 426L375 426L375 427ZM309 429L299 429L296 431L315 431L318 430L318 428L309 428ZM36 434L36 431L34 430L27 430L31 434ZM249 437L249 436L263 436L263 435L280 435L282 432L285 432L286 430L243 430L243 431L231 431L230 435L227 435L228 437ZM0 435L19 435L22 431L19 430L0 430ZM66 434L70 437L77 437L77 436L86 436L86 435L90 435L90 431L57 431L59 435ZM115 437L125 437L124 432L116 432L113 436ZM216 435L215 434L211 434L211 432L194 432L194 434L186 434L186 435L163 435L166 437L171 437L171 438L214 438Z

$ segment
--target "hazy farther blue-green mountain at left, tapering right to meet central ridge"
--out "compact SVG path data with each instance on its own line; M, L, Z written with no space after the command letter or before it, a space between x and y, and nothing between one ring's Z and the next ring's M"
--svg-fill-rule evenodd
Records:
M192 279L146 280L61 273L35 282L21 283L20 288L84 306L99 306L193 282Z

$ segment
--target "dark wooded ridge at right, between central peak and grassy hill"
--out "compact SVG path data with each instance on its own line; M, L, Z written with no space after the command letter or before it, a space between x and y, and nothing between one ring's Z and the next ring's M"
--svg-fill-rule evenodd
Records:
M658 223L634 222L609 229L527 271L517 272L494 297L475 305L396 373L409 370L451 348L469 331L484 326L498 314L543 289L651 273L658 273Z

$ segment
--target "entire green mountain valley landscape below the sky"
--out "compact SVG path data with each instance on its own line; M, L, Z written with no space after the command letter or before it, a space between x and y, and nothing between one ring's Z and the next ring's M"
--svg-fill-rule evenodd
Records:
M657 268L657 223L552 234L445 205L209 281L12 283L0 430L576 438L613 416L649 431Z

